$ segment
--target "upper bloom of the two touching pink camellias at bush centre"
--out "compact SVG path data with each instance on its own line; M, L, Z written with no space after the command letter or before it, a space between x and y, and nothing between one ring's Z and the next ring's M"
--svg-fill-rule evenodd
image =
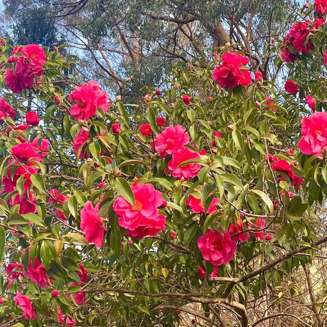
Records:
M185 128L181 125L168 126L160 134L156 136L155 151L164 155L173 154L183 149L185 144L190 142L190 136L185 132Z

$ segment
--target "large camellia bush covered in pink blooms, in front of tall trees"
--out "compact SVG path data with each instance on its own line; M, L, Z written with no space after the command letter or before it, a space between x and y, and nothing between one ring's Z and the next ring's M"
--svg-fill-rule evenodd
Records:
M267 49L280 87L226 44L138 104L2 39L1 326L322 327L283 300L327 242L326 12Z

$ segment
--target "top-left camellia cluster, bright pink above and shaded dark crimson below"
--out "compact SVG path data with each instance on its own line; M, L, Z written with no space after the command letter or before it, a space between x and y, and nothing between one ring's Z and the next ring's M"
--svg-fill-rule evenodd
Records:
M18 54L19 56L15 56ZM38 44L16 46L8 62L12 67L6 69L5 83L14 93L34 87L35 77L40 79L44 73L42 65L46 61L44 50Z

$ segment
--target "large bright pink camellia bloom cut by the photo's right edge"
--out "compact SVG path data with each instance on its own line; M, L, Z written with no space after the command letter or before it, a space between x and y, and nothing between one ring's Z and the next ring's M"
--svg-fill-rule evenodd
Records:
M301 119L301 139L298 148L304 154L319 155L327 146L327 113L315 112Z

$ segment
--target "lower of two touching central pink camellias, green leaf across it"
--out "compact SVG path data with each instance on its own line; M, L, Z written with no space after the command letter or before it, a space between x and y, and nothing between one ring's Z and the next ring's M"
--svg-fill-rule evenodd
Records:
M187 148L183 148L178 152L174 152L172 159L168 162L168 169L172 171L172 175L176 178L184 177L185 180L188 180L190 177L196 177L201 165L196 162L190 162L180 166L184 161L191 159L199 159L200 155L197 152L191 151Z

